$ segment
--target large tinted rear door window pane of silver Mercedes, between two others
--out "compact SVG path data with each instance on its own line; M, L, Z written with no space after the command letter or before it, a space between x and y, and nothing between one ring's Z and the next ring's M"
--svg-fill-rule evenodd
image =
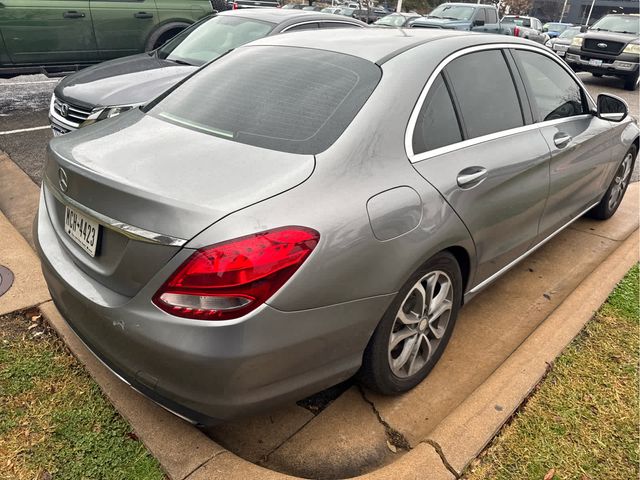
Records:
M524 125L507 62L500 50L470 53L445 68L467 138Z

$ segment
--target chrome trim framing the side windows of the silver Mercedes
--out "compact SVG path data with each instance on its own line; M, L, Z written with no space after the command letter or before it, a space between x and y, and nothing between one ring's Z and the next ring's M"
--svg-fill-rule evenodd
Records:
M462 50L458 50L457 52L452 53L447 58L445 58L442 62L440 62L440 64L438 64L438 66L435 68L435 70L429 76L429 79L427 80L427 83L425 84L424 88L422 89L422 92L420 92L420 96L418 97L418 101L416 102L416 105L413 108L413 110L411 112L411 115L409 117L409 123L407 124L407 128L405 130L405 136L404 136L404 148L405 148L405 151L407 153L407 156L409 157L409 161L411 163L421 162L422 160L426 160L428 158L436 157L438 155L443 155L445 153L450 153L450 152L453 152L453 151L456 151L456 150L461 150L463 148L467 148L467 147L470 147L470 146L473 146L473 145L477 145L477 144L480 144L480 143L490 142L490 141L498 139L498 138L508 137L510 135L517 135L519 133L526 132L526 131L529 131L529 130L534 130L534 129L537 129L537 128L540 128L540 127L546 127L546 126L550 126L550 125L557 125L557 124L560 124L560 123L564 123L566 121L575 120L575 119L578 119L578 118L591 117L592 116L592 114L590 114L590 113L585 113L585 114L582 114L582 115L575 115L573 117L558 118L558 119L555 119L555 120L548 120L546 122L532 123L532 124L529 124L529 125L523 125L521 127L516 127L516 128L511 128L511 129L508 129L508 130L502 130L502 131L499 131L499 132L490 133L488 135L482 135L480 137L470 138L470 139L467 139L467 140L463 140L461 142L457 142L457 143L452 143L450 145L446 145L444 147L439 147L439 148L435 148L433 150L428 150L426 152L422 152L422 153L418 153L418 154L414 153L414 151L413 151L413 133L414 133L414 130L415 130L415 127L416 127L416 123L418 121L418 115L420 114L420 110L422 109L422 105L424 104L424 101L427 98L427 95L429 94L429 90L431 89L431 86L433 85L433 82L435 82L437 76L442 72L442 70L444 70L444 68L449 63L451 63L453 60L455 60L457 58L460 58L460 57L462 57L464 55L467 55L469 53L481 52L481 51L485 51L485 50L498 50L498 49L528 50L528 51L539 53L541 55L544 55L544 56L550 58L556 64L560 65L571 76L571 78L574 79L574 81L578 84L580 89L586 95L587 99L591 102L591 105L592 106L595 105L595 101L593 100L593 97L591 97L591 95L589 94L587 89L584 88L584 85L582 85L582 82L580 81L578 76L573 72L573 70L571 70L571 68L568 65L564 64L564 62L559 61L560 59L552 51L543 50L542 48L534 47L532 45L520 45L520 44L517 44L517 43L487 43L485 45L476 45L476 46L473 46L473 47L463 48Z

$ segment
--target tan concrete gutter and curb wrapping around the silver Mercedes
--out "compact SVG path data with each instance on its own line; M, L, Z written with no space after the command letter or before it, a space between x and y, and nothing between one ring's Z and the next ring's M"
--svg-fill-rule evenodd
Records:
M131 390L86 350L49 300L34 252L3 215L0 265L16 281L0 297L0 313L39 305L172 479L287 478L276 470L455 478L638 260L639 194L633 184L614 218L579 220L466 305L445 355L411 392L381 397L352 387L318 415L285 405L208 431L217 441Z

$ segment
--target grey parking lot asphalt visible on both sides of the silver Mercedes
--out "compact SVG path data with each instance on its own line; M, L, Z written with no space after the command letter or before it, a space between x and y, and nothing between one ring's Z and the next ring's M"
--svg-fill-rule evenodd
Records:
M594 98L600 93L617 95L627 102L630 114L640 119L638 92L624 90L622 80L596 78L588 73L580 73L579 76ZM49 101L59 81L59 78L47 78L45 75L0 79L0 150L6 152L38 185L47 142L52 138L47 118ZM33 128L39 129L27 130ZM632 181L638 181L639 169L640 162L636 162Z

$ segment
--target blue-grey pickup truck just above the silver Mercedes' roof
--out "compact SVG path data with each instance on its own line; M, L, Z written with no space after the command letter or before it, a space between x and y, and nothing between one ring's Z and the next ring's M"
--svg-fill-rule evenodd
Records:
M471 30L473 27L497 23L498 10L493 5L443 3L429 15L414 20L411 27Z

